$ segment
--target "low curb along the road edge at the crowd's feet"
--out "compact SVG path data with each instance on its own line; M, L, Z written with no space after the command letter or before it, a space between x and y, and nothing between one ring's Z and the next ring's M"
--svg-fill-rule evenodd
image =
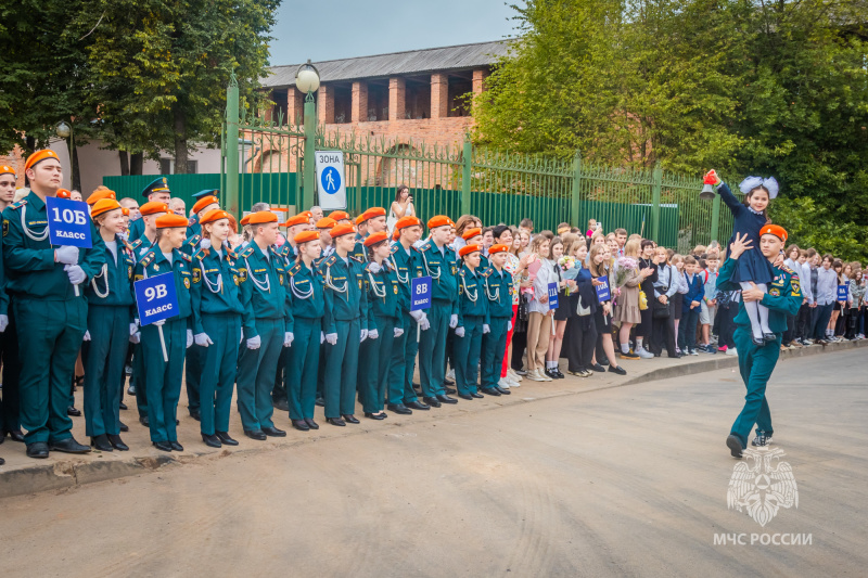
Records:
M858 347L868 347L868 339L859 342L844 342L830 344L822 347L803 347L799 349L789 349L781 351L781 359L800 358L814 356L826 352L845 351L847 349L855 349ZM485 408L485 410L493 410L500 407L512 406L515 402L529 403L552 397L562 397L566 395L580 395L590 391L599 391L601 389L609 389L613 387L624 387L627 385L638 385L648 382L656 382L660 380L672 380L675 377L682 377L685 375L693 375L697 373L706 373L720 369L728 369L738 367L738 357L715 355L713 359L704 359L693 363L685 363L680 365L672 365L668 368L660 368L649 371L641 375L637 375L623 383L611 383L601 385L600 387L592 387L577 391L553 391L548 396L539 396L533 399L516 399L514 402L507 404L497 404L494 407ZM475 410L480 411L480 410ZM431 414L435 415L435 414ZM431 418L426 421L437 421L437 418ZM399 424L398 424L399 426ZM92 484L95 481L105 481L110 479L117 479L127 476L136 476L148 472L153 472L174 464L186 463L200 463L203 459L224 458L233 454L252 455L275 449L292 447L299 444L310 444L317 440L343 438L346 435L362 435L369 433L367 428L356 431L354 434L344 434L335 436L334 438L323 437L308 437L299 439L298 441L289 445L265 445L256 448L244 448L241 450L228 451L187 451L184 454L175 457L171 454L156 454L145 457L130 457L127 460L118 461L75 461L72 459L64 462L55 462L52 464L34 465L26 468L11 470L4 472L0 468L0 499L11 498L13 496L23 496L29 493L38 493L43 491L59 491L75 488L85 484Z

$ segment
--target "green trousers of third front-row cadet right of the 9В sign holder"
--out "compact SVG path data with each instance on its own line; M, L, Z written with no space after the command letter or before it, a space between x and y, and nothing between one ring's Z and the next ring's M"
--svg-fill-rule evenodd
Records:
M290 420L314 419L322 319L296 317L285 370Z

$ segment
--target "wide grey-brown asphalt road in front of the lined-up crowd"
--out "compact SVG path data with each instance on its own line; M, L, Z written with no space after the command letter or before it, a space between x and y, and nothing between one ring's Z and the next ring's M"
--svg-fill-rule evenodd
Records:
M781 364L797 508L727 509L732 370L0 500L4 576L865 576L868 377ZM324 425L324 427L329 427ZM810 536L750 544L751 535ZM715 535L748 543L715 544Z

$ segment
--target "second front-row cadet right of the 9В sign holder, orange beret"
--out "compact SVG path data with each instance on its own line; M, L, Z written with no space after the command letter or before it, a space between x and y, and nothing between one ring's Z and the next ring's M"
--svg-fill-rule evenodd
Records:
M286 319L292 311L284 288L286 269L272 247L278 241L277 216L270 210L254 213L247 223L253 240L239 254L239 262L247 271L247 280L241 284L241 305L247 314L238 367L238 404L244 435L264 440L286 435L271 421L271 389L280 351L292 345Z

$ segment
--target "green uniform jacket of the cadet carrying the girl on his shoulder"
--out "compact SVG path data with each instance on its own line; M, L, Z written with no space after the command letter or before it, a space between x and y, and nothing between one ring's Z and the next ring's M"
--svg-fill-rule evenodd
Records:
M760 251L756 248L748 251ZM736 270L738 259L729 258L720 268L717 278L717 288L720 291L739 291L741 285L730 281L732 272ZM768 285L768 293L760 301L768 308L768 329L775 333L787 331L787 316L799 313L802 306L802 286L799 283L799 275L788 267L773 267L775 278ZM748 311L744 310L744 301L739 301L739 312L736 316L737 325L751 325Z

